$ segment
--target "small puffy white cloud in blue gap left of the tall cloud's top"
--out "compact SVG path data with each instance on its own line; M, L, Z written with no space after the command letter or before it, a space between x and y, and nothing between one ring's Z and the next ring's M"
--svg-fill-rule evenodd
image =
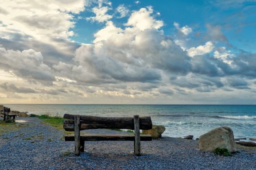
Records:
M96 16L91 16L86 18L86 20L92 20L97 22L105 22L112 18L112 15L107 14L108 10L111 10L108 6L103 7L94 7L93 13L95 13Z

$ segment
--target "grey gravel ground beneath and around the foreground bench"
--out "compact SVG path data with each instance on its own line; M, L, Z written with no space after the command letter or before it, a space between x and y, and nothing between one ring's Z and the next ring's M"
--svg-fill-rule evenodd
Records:
M142 141L140 157L133 155L132 141L88 141L86 151L74 156L74 142L65 142L63 131L41 123L36 117L17 120L26 122L0 136L1 170L256 170L256 149L240 147L240 153L231 157L214 156L212 152L199 151L198 141L170 137ZM85 133L127 132L85 130Z

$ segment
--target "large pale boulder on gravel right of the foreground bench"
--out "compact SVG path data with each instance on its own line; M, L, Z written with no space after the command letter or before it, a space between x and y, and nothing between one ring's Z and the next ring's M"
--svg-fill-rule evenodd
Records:
M234 134L230 127L218 127L199 137L201 151L214 151L216 148L225 148L229 152L236 152Z

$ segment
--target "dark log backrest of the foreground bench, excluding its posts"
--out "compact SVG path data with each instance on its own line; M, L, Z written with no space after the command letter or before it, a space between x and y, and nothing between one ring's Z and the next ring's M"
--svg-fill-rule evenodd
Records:
M74 131L74 117L75 115L72 114L64 115L63 128L66 131ZM134 130L134 117L98 117L80 115L80 130L113 128ZM142 130L152 129L150 116L139 117L139 128Z

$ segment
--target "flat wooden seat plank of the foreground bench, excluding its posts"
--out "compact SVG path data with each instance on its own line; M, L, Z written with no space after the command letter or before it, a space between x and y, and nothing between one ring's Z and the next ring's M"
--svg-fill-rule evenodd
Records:
M134 141L132 134L85 134L80 135L83 141ZM151 135L140 135L141 141L152 141ZM74 135L65 136L65 141L75 141Z

